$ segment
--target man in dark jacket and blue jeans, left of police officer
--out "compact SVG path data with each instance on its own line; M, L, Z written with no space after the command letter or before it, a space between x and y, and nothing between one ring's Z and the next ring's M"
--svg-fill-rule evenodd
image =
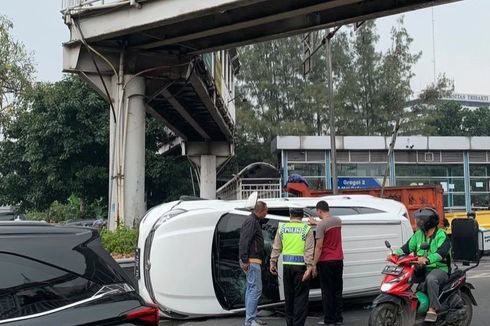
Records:
M243 222L240 230L240 267L247 274L245 291L245 326L263 325L257 319L257 305L262 295L262 259L264 257L264 236L260 220L267 215L267 205L262 201L255 204L252 214Z

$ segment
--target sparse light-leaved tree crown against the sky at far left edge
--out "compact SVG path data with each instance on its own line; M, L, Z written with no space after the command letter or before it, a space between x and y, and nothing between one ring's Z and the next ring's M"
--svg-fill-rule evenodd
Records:
M0 112L31 87L34 65L24 45L10 35L13 24L0 15Z

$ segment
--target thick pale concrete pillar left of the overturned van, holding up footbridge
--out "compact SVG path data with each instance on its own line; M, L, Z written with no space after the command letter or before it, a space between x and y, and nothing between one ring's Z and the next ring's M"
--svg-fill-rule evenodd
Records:
M113 78L111 112L109 227L133 227L146 211L145 204L145 80L125 75Z

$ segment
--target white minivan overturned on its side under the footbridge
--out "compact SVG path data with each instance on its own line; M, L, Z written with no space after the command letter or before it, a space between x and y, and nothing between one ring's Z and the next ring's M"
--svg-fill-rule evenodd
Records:
M266 255L291 207L314 212L326 200L342 219L344 296L376 293L387 256L385 240L400 246L412 235L403 204L367 195L262 199ZM238 264L240 227L250 211L245 201L181 200L151 209L141 220L136 253L140 294L172 318L224 315L244 309L245 274ZM306 221L306 220L305 220ZM281 264L281 261L279 261ZM282 277L262 266L262 306L284 301ZM282 268L279 268L282 270ZM320 298L318 279L310 298Z

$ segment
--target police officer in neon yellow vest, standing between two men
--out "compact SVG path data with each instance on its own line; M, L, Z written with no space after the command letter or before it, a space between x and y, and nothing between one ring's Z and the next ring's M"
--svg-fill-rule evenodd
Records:
M277 260L282 253L286 323L288 326L303 326L308 315L315 239L312 228L302 222L303 209L290 209L289 215L290 221L277 230L270 272L277 275Z

